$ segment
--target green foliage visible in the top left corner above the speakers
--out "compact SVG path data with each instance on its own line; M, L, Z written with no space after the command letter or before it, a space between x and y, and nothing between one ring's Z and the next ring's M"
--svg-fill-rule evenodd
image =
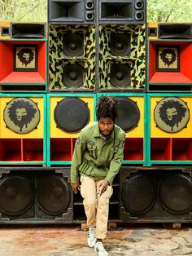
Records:
M0 0L0 20L45 22L47 0Z

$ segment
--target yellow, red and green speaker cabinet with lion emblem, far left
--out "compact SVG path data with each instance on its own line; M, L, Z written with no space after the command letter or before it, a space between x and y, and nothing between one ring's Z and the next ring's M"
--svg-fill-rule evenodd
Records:
M46 164L46 96L0 95L0 165Z

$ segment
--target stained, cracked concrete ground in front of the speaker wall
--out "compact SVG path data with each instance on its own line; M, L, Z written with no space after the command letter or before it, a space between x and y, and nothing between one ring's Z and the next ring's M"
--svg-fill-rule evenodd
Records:
M0 256L97 256L76 226L0 226ZM192 255L192 226L181 230L160 225L119 227L104 243L108 255Z

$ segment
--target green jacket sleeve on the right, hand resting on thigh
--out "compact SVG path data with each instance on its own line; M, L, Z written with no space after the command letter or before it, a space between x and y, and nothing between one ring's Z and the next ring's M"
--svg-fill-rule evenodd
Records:
M119 172L121 163L124 159L124 140L125 140L125 134L120 137L119 145L110 162L109 170L106 177L107 181L110 184L113 182L113 179L115 178L116 174Z

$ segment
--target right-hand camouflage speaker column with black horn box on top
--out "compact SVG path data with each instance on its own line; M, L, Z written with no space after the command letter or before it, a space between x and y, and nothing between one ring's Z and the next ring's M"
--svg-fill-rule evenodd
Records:
M145 89L145 1L98 2L98 90Z

